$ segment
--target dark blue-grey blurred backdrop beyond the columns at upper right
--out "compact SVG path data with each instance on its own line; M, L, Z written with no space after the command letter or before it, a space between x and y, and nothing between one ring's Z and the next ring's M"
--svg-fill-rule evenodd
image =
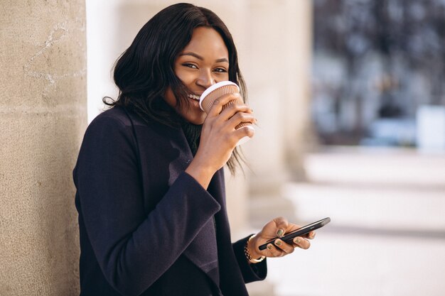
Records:
M312 116L321 143L432 148L425 137L434 129L443 150L443 124L423 125L444 116L444 1L313 5Z

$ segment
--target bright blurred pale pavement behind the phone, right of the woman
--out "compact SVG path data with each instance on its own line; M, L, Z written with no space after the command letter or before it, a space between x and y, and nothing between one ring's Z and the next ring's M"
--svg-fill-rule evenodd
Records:
M277 296L445 295L445 154L334 148L306 169L283 195L303 221L332 222L269 260Z

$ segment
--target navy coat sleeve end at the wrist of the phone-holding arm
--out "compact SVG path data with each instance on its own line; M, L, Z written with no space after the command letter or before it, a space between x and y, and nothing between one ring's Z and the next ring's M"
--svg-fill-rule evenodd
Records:
M267 258L264 258L262 262L255 264L250 264L246 259L244 247L249 238L250 236L247 236L244 239L240 239L239 241L232 243L233 251L235 253L235 257L237 258L238 265L240 266L242 273L242 278L244 279L245 283L264 280L267 275Z

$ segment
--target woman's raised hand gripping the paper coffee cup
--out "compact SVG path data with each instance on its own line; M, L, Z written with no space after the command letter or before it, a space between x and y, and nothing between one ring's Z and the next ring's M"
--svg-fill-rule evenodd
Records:
M241 122L254 124L257 120L252 109L245 104L230 104L230 101L241 100L240 94L225 94L213 102L201 130L198 151L186 172L197 180L204 188L217 170L223 168L232 155L238 141L245 136L252 138L254 130L242 127L235 130Z

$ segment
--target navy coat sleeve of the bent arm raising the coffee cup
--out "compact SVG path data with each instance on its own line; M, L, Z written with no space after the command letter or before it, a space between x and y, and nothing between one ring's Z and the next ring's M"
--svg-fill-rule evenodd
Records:
M144 292L220 210L183 172L144 213L135 147L131 126L99 116L87 128L74 171L87 237L105 278L122 295Z

